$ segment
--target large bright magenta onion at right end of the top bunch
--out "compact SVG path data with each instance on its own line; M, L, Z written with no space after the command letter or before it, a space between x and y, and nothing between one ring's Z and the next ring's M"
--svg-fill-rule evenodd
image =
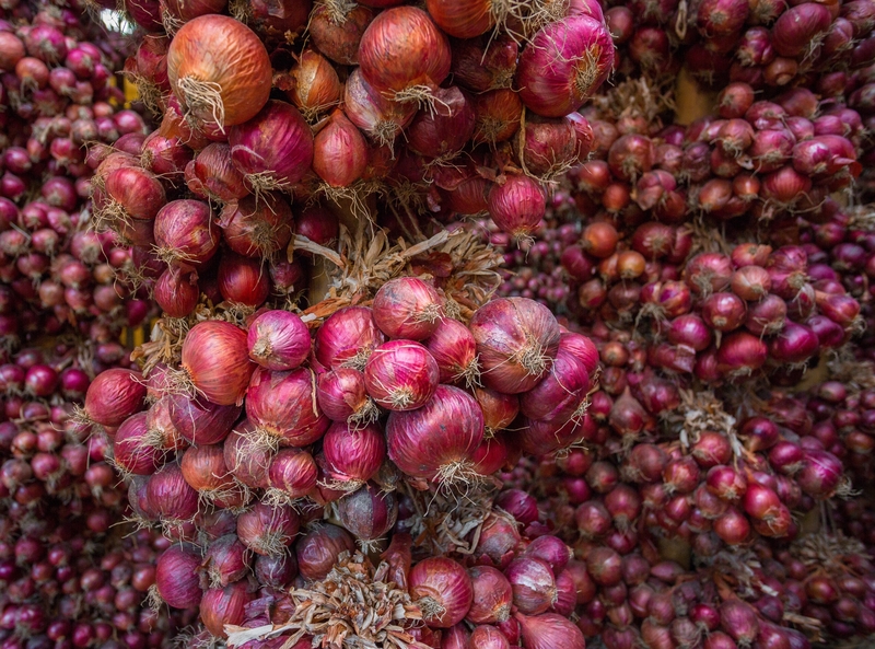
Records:
M604 22L574 15L547 24L520 56L515 86L526 107L562 117L583 105L614 68L614 42Z

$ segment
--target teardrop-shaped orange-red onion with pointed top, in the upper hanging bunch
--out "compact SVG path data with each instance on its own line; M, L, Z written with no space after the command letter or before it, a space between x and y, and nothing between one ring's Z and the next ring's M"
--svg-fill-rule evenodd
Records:
M349 187L368 167L368 141L340 108L313 142L313 171L330 187Z

